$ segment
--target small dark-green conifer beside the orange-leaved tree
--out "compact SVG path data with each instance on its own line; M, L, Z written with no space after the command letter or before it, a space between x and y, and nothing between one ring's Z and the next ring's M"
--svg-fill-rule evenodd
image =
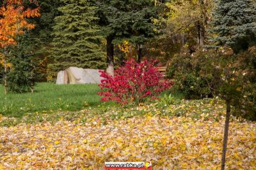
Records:
M15 93L31 91L33 93L36 80L40 79L38 72L40 59L37 58L35 38L28 32L17 38L19 43L8 48L8 62L12 63L7 74L8 89Z

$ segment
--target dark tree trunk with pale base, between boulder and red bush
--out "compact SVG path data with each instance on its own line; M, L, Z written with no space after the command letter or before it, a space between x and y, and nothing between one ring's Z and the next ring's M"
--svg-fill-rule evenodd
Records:
M113 37L108 36L107 37L107 73L109 75L114 75L114 45L112 43Z

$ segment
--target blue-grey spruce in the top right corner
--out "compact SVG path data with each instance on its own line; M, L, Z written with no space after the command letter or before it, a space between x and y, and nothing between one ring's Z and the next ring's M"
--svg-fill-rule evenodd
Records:
M256 8L252 0L221 0L213 13L212 38L218 45L228 45L235 52L255 44Z

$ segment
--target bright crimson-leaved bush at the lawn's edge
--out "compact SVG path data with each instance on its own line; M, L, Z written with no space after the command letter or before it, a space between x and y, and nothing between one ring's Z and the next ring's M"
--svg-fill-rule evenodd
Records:
M170 89L173 83L163 79L163 74L154 66L155 63L156 61L137 63L131 59L115 70L115 76L100 71L100 76L104 77L99 85L102 89L99 93L101 100L138 104L145 98L156 98L164 90Z

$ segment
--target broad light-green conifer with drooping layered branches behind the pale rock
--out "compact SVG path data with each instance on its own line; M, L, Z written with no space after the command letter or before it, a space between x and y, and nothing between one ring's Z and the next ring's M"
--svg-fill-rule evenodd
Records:
M96 7L90 0L63 0L62 15L55 18L52 59L49 65L55 74L70 66L104 68L104 53L99 36Z

